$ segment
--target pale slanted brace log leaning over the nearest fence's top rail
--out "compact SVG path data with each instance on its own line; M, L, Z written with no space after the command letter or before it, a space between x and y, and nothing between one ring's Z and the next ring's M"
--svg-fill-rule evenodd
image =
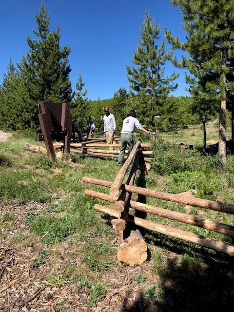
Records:
M128 156L127 160L124 162L124 164L122 165L121 169L119 170L119 172L117 173L117 176L110 188L109 194L113 195L113 196L117 196L120 190L120 187L122 185L124 176L131 164L131 162L133 161L137 150L140 146L140 141L137 141L137 143L134 145L132 152L130 153L130 155Z

